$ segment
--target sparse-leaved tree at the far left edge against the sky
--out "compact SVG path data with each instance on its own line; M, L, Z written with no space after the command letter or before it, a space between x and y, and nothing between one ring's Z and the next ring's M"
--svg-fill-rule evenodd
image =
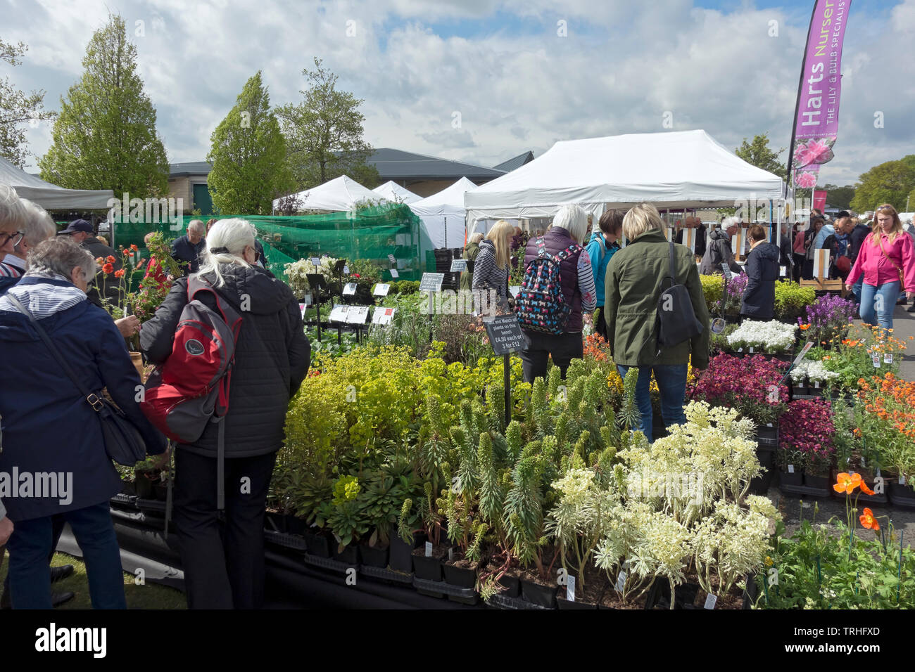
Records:
M0 39L0 60L11 66L21 65L19 59L27 51L22 42L11 44ZM44 109L45 91L26 93L19 91L6 77L0 80L0 156L9 159L20 168L26 166L26 129L22 124L50 121L57 116Z

